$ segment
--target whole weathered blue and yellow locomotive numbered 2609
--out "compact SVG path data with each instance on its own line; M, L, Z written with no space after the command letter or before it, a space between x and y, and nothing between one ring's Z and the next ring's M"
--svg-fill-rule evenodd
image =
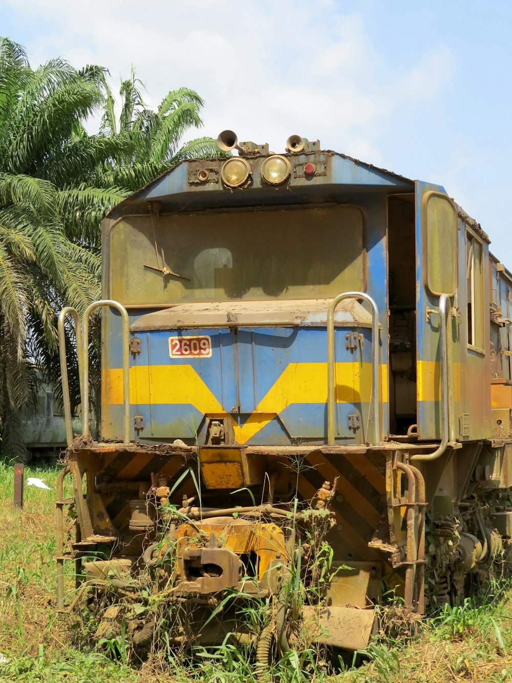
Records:
M102 311L102 404L57 488L59 608L72 558L79 596L124 596L136 645L152 595L177 647L229 634L261 663L306 624L357 650L386 585L423 613L426 573L456 602L511 558L512 276L442 186L298 136L219 145L238 156L110 212L103 299L61 313L87 414Z

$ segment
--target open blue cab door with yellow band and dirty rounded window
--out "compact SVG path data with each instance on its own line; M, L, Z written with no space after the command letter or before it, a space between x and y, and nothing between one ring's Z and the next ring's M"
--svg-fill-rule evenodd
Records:
M457 211L444 188L415 182L416 212L416 402L421 440L442 438L440 296L449 296L449 314L457 305ZM457 317L447 325L453 367L459 367ZM459 396L458 372L453 373L453 395ZM459 411L453 411L455 415Z

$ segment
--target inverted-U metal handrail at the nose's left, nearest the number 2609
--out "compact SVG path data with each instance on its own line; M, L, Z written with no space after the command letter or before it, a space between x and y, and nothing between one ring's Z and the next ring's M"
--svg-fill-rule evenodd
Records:
M110 306L117 309L123 318L123 443L130 443L130 319L128 318L128 311L126 308L113 299L102 299L101 301L94 301L87 306L83 314L82 321L82 368L83 380L82 386L84 389L82 400L82 434L87 436L89 434L89 316L92 311L97 308ZM84 415L85 418L84 419Z

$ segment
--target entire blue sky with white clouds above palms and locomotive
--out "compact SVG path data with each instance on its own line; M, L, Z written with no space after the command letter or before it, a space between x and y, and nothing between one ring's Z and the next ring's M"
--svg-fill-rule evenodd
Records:
M512 268L512 2L0 0L32 66L133 64L156 106L187 85L204 133L284 150L292 133L442 184Z

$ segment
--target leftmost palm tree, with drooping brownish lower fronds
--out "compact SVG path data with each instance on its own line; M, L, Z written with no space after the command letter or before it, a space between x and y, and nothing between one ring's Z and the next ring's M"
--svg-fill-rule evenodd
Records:
M57 350L55 311L98 292L98 255L68 239L51 170L100 106L102 76L60 59L31 70L0 39L0 419L3 446L20 452L31 366Z

